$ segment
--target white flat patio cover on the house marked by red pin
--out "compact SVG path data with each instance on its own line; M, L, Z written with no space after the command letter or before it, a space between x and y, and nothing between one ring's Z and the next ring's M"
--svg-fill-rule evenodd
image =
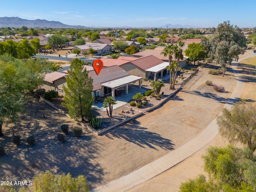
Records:
M101 85L108 88L119 88L126 84L136 82L140 79L142 79L142 77L130 75L107 83L102 83Z

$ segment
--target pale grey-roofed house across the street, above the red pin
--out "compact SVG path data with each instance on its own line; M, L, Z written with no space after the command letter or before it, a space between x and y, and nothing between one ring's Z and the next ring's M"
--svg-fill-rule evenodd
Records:
M85 45L77 45L72 48L72 50L79 49L81 54L88 53L89 49L93 48L97 50L98 53L96 55L102 55L105 53L112 52L112 47L108 44L102 43L86 43Z

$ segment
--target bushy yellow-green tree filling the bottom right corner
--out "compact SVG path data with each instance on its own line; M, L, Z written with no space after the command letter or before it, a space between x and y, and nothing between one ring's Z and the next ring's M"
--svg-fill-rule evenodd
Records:
M182 183L180 192L252 192L256 190L256 162L253 152L247 149L210 147L206 150L204 170L209 174Z

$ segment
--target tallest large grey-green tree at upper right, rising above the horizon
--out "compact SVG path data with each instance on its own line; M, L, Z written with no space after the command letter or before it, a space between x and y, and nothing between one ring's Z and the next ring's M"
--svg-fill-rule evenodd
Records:
M233 58L238 58L239 54L244 53L243 48L246 45L246 38L238 26L233 26L229 21L224 21L218 25L216 33L210 39L210 44L211 50L209 54L211 60L216 59L216 63L223 68L222 76L224 76L226 65L231 64ZM229 52L230 49L238 50L237 48L232 48L232 46L240 46L240 52Z

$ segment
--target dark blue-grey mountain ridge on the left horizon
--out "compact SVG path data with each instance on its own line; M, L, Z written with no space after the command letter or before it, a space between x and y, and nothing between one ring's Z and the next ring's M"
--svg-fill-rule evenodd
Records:
M58 21L47 21L45 19L27 20L18 17L0 17L0 27L16 27L21 28L26 26L28 28L86 28L80 25L66 25Z

